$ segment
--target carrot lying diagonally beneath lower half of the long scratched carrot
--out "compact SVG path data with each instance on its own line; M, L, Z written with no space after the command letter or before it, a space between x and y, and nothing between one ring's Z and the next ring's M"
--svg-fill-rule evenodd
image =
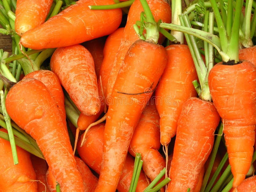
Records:
M84 134L83 133L78 141L77 147L77 151L81 159L83 159L84 162L98 174L100 173L102 164L104 128L104 123L100 123L91 127L90 130L86 133L84 145L80 147L80 143ZM124 169L117 185L117 190L119 192L128 191L132 180L133 167L134 158L130 154L127 154L124 163ZM148 181L144 172L141 171L136 192L143 191L147 186Z

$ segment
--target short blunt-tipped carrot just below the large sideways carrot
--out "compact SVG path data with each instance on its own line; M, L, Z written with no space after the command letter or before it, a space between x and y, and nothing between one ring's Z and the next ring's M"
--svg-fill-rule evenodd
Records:
M51 57L51 70L81 113L92 116L99 112L99 92L94 61L82 45L57 48Z

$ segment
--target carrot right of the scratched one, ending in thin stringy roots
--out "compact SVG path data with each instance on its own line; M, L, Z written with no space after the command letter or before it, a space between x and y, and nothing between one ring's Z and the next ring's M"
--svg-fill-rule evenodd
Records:
M198 79L188 45L172 44L166 51L167 66L156 89L162 145L168 145L175 136L184 101L197 96L192 81Z

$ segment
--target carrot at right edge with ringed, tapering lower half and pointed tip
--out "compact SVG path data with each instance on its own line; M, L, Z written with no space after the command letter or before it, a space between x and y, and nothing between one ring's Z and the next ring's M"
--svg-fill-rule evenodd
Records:
M237 187L250 169L256 124L256 67L249 61L235 65L216 64L208 83L218 110ZM238 142L239 141L239 142Z

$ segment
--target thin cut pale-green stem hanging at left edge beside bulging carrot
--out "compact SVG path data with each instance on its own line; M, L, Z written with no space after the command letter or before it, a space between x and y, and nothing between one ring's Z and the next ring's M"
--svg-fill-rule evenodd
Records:
M6 122L7 130L8 130L9 138L10 138L13 162L14 162L14 164L18 164L19 160L18 160L18 156L17 156L17 150L16 150L16 144L15 144L15 140L14 140L14 135L13 135L13 132L12 132L11 118L7 114L7 111L6 111L6 108L5 108L6 94L7 94L6 89L5 89L5 91L3 91L3 90L0 91L1 106L2 106L2 111L3 111L3 115L4 115L4 120Z

